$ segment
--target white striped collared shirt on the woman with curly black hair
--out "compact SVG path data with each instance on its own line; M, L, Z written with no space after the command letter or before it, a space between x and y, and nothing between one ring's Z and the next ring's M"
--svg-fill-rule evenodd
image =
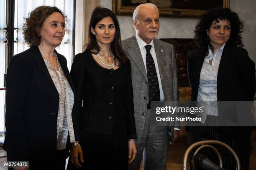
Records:
M220 65L220 59L222 56L223 44L218 50L212 54L212 50L209 47L209 54L205 57L200 73L200 81L198 86L197 101L203 101L208 107L207 115L218 116L218 105L217 102L217 76ZM210 65L212 60L212 65ZM206 102L211 101L211 102Z

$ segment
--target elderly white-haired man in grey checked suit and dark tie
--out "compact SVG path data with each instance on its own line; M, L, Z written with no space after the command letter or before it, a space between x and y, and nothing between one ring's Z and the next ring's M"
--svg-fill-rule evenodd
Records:
M154 125L151 101L179 100L177 67L171 44L156 39L159 30L159 11L151 3L141 4L133 12L136 35L123 40L131 60L133 101L137 130L137 155L130 170L139 170L143 156L144 170L165 170L168 132L172 141L178 128ZM175 133L174 133L175 131Z

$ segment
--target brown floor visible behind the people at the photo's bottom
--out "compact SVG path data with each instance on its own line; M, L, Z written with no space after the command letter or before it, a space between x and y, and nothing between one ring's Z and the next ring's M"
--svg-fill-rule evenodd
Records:
M187 137L179 137L175 145L169 145L166 170L182 170L183 156L187 149ZM7 170L3 163L6 162L5 152L0 149L0 170ZM142 168L141 168L142 170ZM252 149L250 156L250 169L256 170L256 131L252 132Z

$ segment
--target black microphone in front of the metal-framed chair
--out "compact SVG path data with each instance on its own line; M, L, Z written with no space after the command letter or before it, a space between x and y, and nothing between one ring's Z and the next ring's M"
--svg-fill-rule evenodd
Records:
M193 161L196 168L201 168L203 170L224 170L223 168L220 168L218 165L209 160L207 157L205 157L205 155L202 155L200 153L197 153L194 156Z

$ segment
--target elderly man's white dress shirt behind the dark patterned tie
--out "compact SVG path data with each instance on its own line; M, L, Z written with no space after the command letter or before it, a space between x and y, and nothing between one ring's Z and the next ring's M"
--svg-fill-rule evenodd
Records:
M147 54L147 52L146 52L145 46L146 45L151 45L152 46L151 49L150 49L150 53L153 57L155 67L156 67L156 75L157 75L157 78L158 78L158 84L159 84L159 90L160 90L160 100L164 101L164 92L163 92L161 77L160 77L160 73L159 73L158 63L157 63L157 59L156 59L156 50L155 50L155 47L154 47L154 42L151 41L149 44L147 44L146 42L141 40L141 38L137 35L137 33L135 34L135 36L136 36L138 45L139 45L140 50L141 50L141 56L142 56L142 59L143 59L143 62L144 62L146 72L147 72L147 65L146 65L146 54Z

